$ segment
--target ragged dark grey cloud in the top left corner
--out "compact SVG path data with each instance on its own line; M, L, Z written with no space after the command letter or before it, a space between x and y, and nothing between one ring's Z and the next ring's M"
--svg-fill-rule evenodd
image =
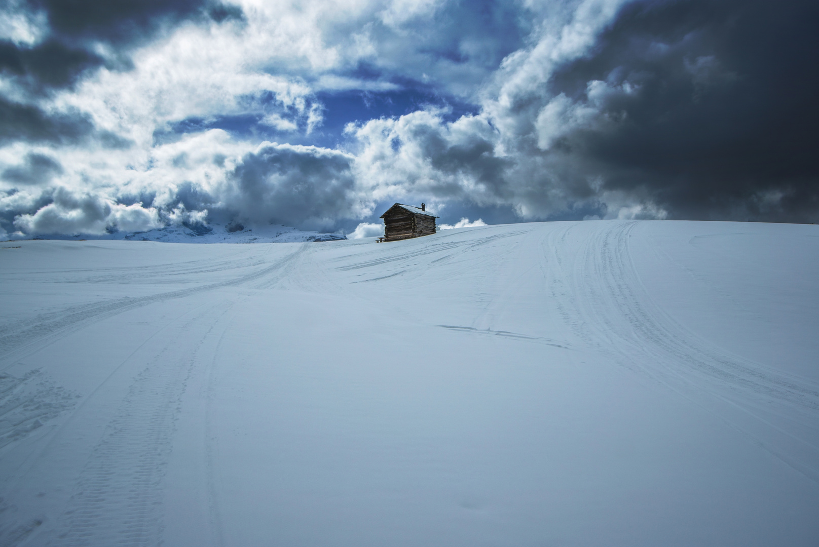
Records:
M129 47L152 39L163 25L185 18L210 17L217 22L242 18L240 8L207 0L32 0L17 8L43 11L48 20L48 34L40 43L0 41L0 75L10 78L29 101L54 90L74 88L79 79L100 66L129 69ZM0 9L0 16L4 13ZM113 53L101 57L94 51L96 43L111 45ZM0 145L14 141L76 144L91 137L105 148L130 144L95 129L87 114L50 113L31 102L0 95Z

